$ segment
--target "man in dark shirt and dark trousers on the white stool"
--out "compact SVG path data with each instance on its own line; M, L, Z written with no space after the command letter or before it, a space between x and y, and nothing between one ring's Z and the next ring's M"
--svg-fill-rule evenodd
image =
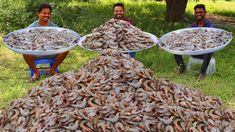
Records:
M214 27L214 24L212 24L210 21L205 19L206 16L206 9L205 5L198 4L194 7L194 15L196 18L196 22L191 24L191 27ZM206 76L206 69L210 63L211 57L213 53L208 54L202 54L202 55L193 55L192 57L203 59L203 64L200 69L200 73L198 76L199 80L203 80ZM181 55L174 55L175 61L179 66L179 73L183 73L186 70L183 57Z

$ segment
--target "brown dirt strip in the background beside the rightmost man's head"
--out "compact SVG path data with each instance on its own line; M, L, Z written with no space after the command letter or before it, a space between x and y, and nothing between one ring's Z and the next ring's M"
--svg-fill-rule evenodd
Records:
M229 26L235 28L235 17L227 17L227 16L223 16L223 15L208 13L206 15L206 18L215 24L229 25Z

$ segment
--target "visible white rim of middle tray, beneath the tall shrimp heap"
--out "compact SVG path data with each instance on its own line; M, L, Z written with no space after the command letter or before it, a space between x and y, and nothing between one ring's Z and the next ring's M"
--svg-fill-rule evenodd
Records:
M153 34L151 34L151 33L148 33L148 32L144 32L144 33L146 33L147 35L150 36L150 38L152 39L152 41L153 41L153 43L154 43L153 45L151 45L151 46L149 46L149 47L146 47L146 48L143 48L143 49L139 49L139 50L129 50L129 51L120 51L120 52L123 52L123 53L127 53L127 52L138 52L138 51L142 51L142 50L145 50L145 49L152 48L153 46L155 46L155 45L158 44L158 38L157 38L155 35L153 35ZM91 35L91 34L88 34L88 35ZM87 47L82 46L82 42L86 39L86 37L87 37L88 35L83 36L83 37L80 39L80 41L78 42L78 45L79 45L80 47L84 48L84 49L89 50L89 51L101 52L101 51L98 51L98 50L89 49L89 48L87 48Z

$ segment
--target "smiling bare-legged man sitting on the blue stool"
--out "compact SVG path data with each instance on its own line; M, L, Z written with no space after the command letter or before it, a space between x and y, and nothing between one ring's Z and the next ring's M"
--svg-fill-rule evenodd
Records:
M55 24L50 22L51 18L51 12L52 12L52 7L47 4L43 3L39 6L38 9L38 20L30 24L28 27L40 27L40 26L51 26L51 27L57 27ZM23 55L24 60L26 63L33 69L34 75L30 78L30 81L36 81L40 77L40 73L38 69L36 68L36 65L34 63L35 59L38 58L55 58L55 63L52 65L52 67L49 69L48 73L50 75L55 75L57 74L55 69L58 67L65 57L67 56L68 52L60 53L57 55L52 55L52 56L32 56L32 55Z

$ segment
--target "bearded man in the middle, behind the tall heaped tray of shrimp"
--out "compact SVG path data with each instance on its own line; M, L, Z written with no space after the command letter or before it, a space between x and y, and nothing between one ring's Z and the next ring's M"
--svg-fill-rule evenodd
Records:
M134 22L132 20L124 16L124 4L122 3L116 3L113 5L113 17L115 19L121 19L121 20L127 21L131 25L134 25ZM131 57L135 58L136 52L129 52L128 54Z

